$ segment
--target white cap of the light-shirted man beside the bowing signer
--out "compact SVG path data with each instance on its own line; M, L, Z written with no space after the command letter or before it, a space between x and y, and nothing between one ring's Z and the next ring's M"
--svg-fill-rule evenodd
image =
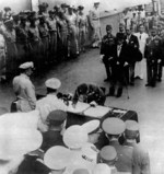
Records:
M46 82L46 88L57 90L61 86L61 82L57 78L48 79Z

